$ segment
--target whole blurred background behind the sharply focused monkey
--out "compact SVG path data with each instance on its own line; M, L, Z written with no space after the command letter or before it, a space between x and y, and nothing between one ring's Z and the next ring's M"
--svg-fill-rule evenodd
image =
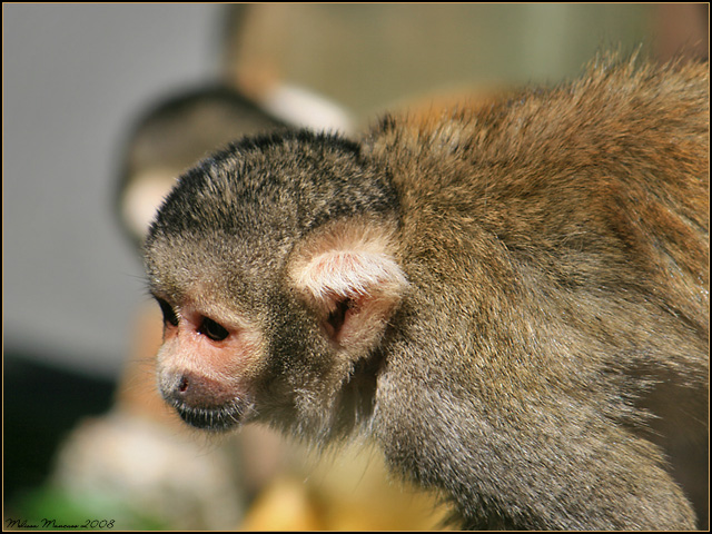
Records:
M352 523L326 522L336 517L329 500L317 490L305 495L300 482L310 476L329 487L328 475L294 467L299 461L276 438L240 438L238 457L205 443L191 448L195 436L144 396L155 396L150 357L160 319L138 246L177 174L244 134L303 125L352 135L385 109L555 83L580 73L597 50L640 47L666 60L678 52L706 57L709 42L708 4L2 10L3 518L68 521L70 511L91 510L122 517L119 528L274 527L259 523L257 510L270 510L273 494L283 496L283 511L290 496L299 510L293 518L305 527L364 526L353 522L362 511ZM127 416L137 413L148 426ZM152 435L160 425L167 433ZM136 441L122 442L127 436ZM167 456L166 442L185 443L167 472L205 461L202 471L186 474L196 492L177 495L186 481L166 482L166 472L148 482L147 465ZM126 458L111 455L117 444ZM255 448L268 453L255 459ZM129 479L136 469L142 475ZM294 476L279 477L285 469ZM365 467L359 473L368 479ZM149 486L164 494L154 502L141 493L151 513L121 505L127 492ZM356 490L348 492L356 502ZM214 497L192 504L196 493ZM366 526L431 526L419 516L414 522Z

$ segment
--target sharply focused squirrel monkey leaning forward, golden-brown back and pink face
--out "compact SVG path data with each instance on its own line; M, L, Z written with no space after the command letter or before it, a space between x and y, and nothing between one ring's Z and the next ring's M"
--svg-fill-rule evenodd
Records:
M210 432L373 436L465 528L694 528L656 428L706 457L709 154L708 65L616 59L236 141L146 240L160 392Z

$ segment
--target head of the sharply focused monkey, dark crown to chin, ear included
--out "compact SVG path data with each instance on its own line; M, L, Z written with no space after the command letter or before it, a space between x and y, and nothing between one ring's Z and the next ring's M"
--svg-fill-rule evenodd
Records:
M385 176L358 145L300 131L234 144L179 179L145 249L159 388L187 423L327 437L364 421L407 288Z

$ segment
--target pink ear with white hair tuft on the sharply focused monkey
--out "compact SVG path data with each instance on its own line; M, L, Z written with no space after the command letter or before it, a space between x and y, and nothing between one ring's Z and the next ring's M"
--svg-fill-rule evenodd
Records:
M363 354L379 340L407 286L389 243L373 229L334 229L293 264L291 279L324 333L348 353Z

